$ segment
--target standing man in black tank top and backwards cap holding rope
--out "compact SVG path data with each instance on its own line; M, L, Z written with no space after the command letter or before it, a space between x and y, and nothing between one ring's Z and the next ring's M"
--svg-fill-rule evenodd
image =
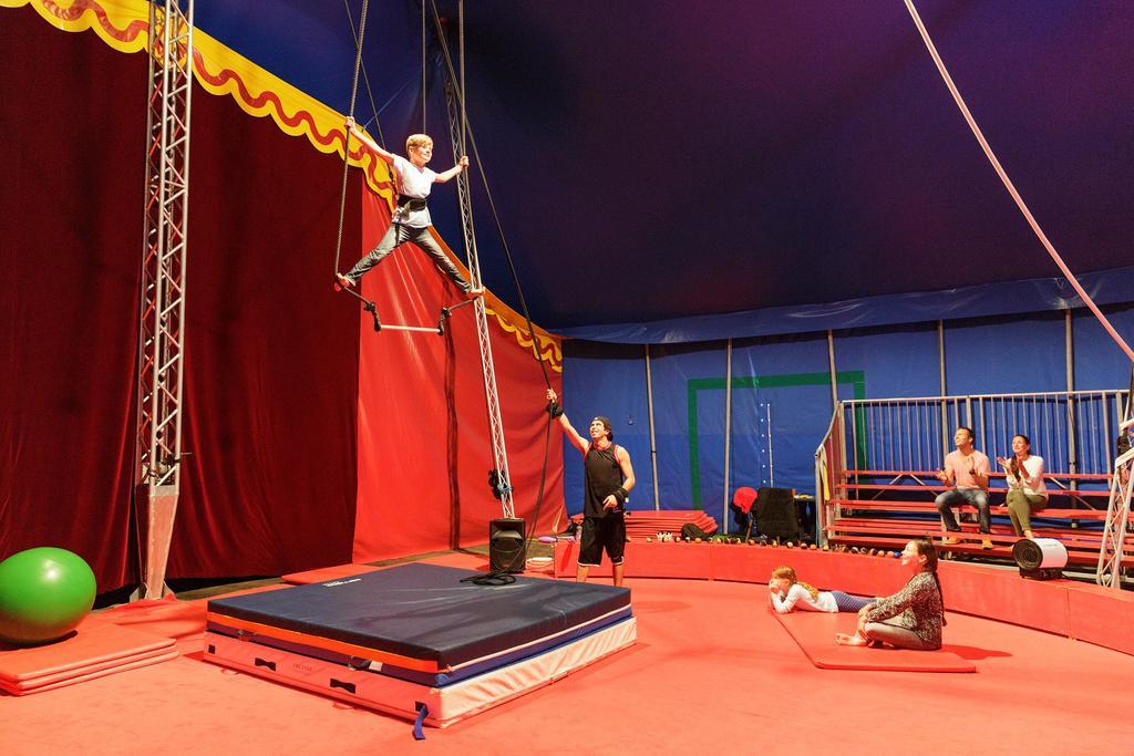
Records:
M559 418L564 433L583 452L583 527L575 579L586 583L586 574L602 563L606 550L613 566L615 585L623 584L623 552L626 550L626 500L634 487L634 468L629 453L615 443L610 419L591 421L587 441L570 424L559 407L556 392L548 389L552 417Z

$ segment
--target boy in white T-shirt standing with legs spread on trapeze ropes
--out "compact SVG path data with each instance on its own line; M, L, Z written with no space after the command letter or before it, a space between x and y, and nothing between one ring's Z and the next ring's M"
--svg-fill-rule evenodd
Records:
M339 284L342 287L356 286L358 279L365 275L366 271L382 262L382 258L393 252L399 244L413 241L433 258L438 267L460 287L462 291L471 297L482 295L484 290L474 289L473 284L464 279L457 266L452 264L452 261L429 232L430 226L432 226L428 206L430 190L434 184L445 184L465 170L468 167L468 156L462 155L460 162L456 165L443 173L435 173L425 168L425 163L433 156L433 139L425 134L413 134L406 139L406 154L409 155L409 160L406 160L401 155L396 155L380 147L376 142L358 129L353 118L347 119L346 127L350 134L393 168L398 187L398 204L393 211L390 228L387 229L378 246L355 263L355 266L346 274L335 273Z

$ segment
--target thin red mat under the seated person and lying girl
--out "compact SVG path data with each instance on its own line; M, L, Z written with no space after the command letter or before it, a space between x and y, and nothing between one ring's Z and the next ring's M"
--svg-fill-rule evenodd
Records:
M776 614L776 612L772 612ZM976 665L948 651L906 651L839 646L836 632L854 632L854 613L792 612L776 614L784 629L822 670L875 670L880 672L975 672Z

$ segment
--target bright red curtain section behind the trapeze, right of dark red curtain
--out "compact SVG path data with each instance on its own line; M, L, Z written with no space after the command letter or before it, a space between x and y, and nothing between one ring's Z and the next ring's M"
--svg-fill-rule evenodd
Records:
M373 245L389 226L389 212L366 193L362 218L363 239ZM442 306L464 299L412 245L373 269L363 290L378 303L383 323L401 325L434 325ZM494 306L491 298L489 304ZM443 337L374 333L370 315L361 320L355 561L483 544L489 520L501 510L489 489L492 449L472 306L454 313ZM530 348L494 317L489 330L516 510L531 526L547 434L545 385ZM549 368L549 376L558 390L559 374ZM564 523L558 424L544 501L538 533Z

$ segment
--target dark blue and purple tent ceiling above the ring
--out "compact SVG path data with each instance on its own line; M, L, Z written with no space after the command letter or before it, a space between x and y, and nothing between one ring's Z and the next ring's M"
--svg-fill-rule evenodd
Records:
M456 3L439 7L456 54ZM1134 3L917 7L1072 269L1128 265ZM357 23L361 0L197 0L196 23L346 112L348 9ZM1058 274L897 0L468 0L465 15L469 125L543 325ZM391 147L422 126L421 24L416 0L370 2L364 65ZM447 167L429 40L425 128ZM356 112L373 112L365 88ZM516 304L475 192L484 278ZM459 248L454 195L439 187L434 219Z

